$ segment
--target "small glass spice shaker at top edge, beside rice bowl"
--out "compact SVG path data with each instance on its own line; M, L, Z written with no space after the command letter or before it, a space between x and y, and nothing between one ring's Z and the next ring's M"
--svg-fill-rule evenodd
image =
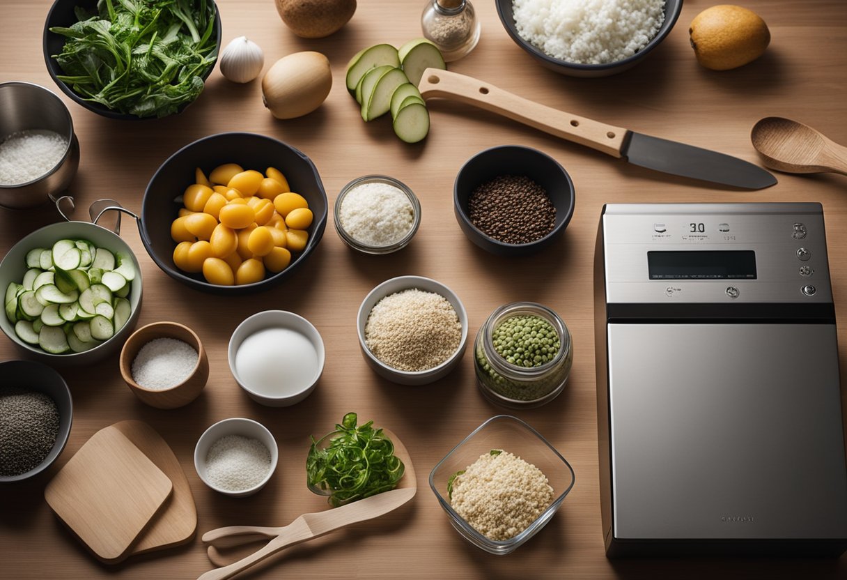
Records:
M468 0L429 0L421 28L448 63L461 59L479 42L479 20Z

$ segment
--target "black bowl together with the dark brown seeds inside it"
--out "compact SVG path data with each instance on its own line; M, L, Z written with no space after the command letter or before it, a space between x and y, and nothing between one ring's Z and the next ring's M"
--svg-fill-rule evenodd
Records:
M501 256L549 246L573 215L573 181L537 149L502 145L462 165L453 187L456 220L468 239Z

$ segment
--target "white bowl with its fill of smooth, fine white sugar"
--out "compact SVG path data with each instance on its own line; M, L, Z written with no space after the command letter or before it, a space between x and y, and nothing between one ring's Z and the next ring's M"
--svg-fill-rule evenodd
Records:
M324 371L324 340L300 315L264 310L230 338L230 371L257 403L288 407L306 399Z

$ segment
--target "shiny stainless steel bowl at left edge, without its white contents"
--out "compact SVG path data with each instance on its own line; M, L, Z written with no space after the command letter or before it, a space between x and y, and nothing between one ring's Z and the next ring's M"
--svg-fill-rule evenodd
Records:
M23 209L46 204L68 188L80 165L80 142L74 120L60 98L30 82L0 83L0 142L12 133L47 129L68 140L62 159L35 180L17 185L0 184L0 206Z

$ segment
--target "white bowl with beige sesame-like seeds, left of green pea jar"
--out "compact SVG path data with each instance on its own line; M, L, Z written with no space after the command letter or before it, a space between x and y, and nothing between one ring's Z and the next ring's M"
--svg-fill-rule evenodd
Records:
M379 284L359 306L359 346L380 376L405 385L452 371L468 343L468 313L449 287L423 276Z

